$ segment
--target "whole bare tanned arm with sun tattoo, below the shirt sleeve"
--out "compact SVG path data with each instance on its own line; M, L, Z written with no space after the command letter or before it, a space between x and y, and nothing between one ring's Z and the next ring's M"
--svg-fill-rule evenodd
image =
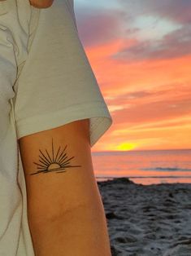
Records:
M36 256L111 256L89 120L20 139Z

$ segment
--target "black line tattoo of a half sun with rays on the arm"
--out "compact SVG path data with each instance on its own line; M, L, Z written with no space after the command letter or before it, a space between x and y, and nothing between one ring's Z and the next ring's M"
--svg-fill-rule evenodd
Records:
M45 153L45 152L42 152L41 149L39 149L40 151L40 154L38 156L39 162L36 163L33 161L33 163L37 165L37 172L30 175L40 174L40 173L45 174L45 173L50 173L52 171L55 171L58 174L58 173L65 172L66 171L65 169L67 168L81 167L81 166L71 166L70 161L74 157L70 157L70 158L67 157L66 148L67 148L67 145L65 146L65 148L63 148L63 150L60 151L61 147L59 147L58 151L54 155L54 146L53 146L53 138L52 138L52 152L49 153L46 150L46 153Z

